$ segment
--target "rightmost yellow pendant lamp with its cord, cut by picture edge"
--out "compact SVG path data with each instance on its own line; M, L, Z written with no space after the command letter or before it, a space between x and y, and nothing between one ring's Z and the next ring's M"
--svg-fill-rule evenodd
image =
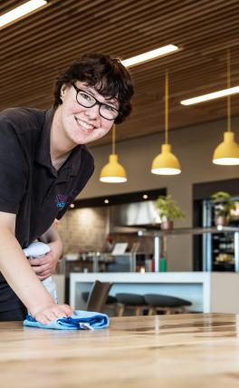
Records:
M231 87L231 54L227 52L227 88ZM234 141L234 132L231 129L231 96L227 96L227 131L224 141L214 151L213 163L222 166L235 166L239 164L239 145Z

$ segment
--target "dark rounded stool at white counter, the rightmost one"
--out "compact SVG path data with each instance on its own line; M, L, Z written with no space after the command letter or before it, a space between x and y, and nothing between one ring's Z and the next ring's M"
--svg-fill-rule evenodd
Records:
M158 311L164 314L185 314L186 306L191 306L191 302L180 297L147 294L145 300L148 304L148 315L156 315Z

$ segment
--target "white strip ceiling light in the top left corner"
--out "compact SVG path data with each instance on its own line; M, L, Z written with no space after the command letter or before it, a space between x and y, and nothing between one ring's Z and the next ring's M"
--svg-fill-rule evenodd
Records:
M12 11L6 12L4 15L0 16L0 27L5 26L6 24L10 24L14 22L14 20L17 20L24 15L30 14L31 12L46 4L47 1L45 0L31 0L27 3L24 3L23 5L19 5Z

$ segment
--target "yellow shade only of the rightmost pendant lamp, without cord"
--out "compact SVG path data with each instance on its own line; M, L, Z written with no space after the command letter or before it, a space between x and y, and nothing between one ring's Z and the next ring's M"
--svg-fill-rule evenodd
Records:
M239 164L239 146L234 141L234 132L224 133L224 141L214 151L213 163L224 166Z

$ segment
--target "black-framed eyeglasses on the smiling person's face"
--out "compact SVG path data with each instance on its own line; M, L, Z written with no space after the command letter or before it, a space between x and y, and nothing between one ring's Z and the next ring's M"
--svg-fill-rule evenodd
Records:
M115 120L119 116L119 110L107 103L96 100L88 92L82 91L72 83L73 88L76 91L76 101L84 108L92 108L95 105L99 105L100 116L106 120Z

